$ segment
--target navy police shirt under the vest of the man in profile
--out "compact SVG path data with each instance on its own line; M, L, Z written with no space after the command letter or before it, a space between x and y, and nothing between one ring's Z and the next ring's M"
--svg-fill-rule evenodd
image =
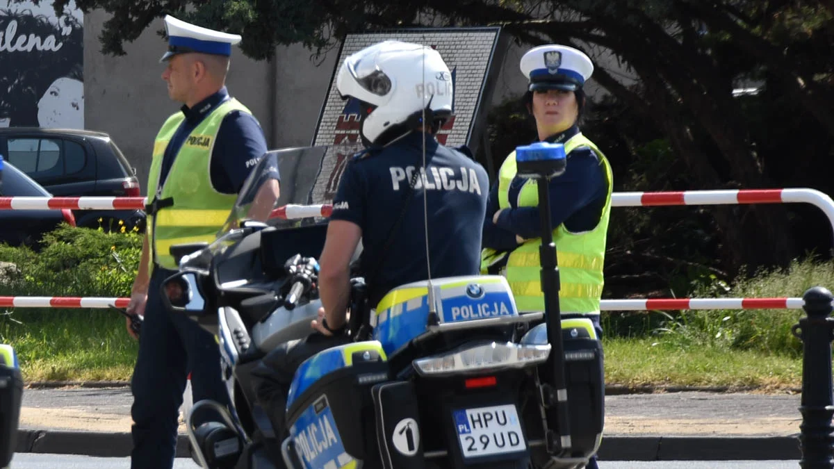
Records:
M191 131L203 122L209 113L228 99L229 91L223 87L217 93L195 104L193 108L183 105L181 110L185 114L185 120L179 124L179 128L165 149L159 174L160 187L168 177L174 157L183 146L188 134L191 134ZM223 123L220 124L217 139L214 141L214 149L212 149L209 172L214 189L223 194L238 194L244 180L249 176L249 171L266 151L266 139L258 119L255 119L252 114L242 113L239 110L226 114ZM155 189L149 188L148 190Z

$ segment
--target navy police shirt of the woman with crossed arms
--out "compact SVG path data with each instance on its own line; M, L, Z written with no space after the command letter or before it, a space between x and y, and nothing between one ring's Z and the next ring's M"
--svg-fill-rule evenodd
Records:
M573 126L561 134L555 134L546 141L564 144L579 133ZM602 217L608 194L608 181L600 155L589 147L579 147L567 154L565 173L550 179L550 219L553 227L565 224L573 233L593 229ZM516 176L508 191L510 209L504 210L497 223L492 217L499 210L498 182L490 190L490 199L484 219L483 242L485 248L499 251L514 250L518 247L515 235L525 240L538 238L541 234L539 208L518 207L516 201L526 178Z

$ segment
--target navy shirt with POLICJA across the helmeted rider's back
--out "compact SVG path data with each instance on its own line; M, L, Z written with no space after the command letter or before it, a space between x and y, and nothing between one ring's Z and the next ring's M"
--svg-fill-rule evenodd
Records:
M423 140L426 163L423 168ZM399 229L384 253L412 176L419 174ZM427 196L432 278L477 275L489 177L473 159L437 143L431 135L408 134L379 151L354 157L344 170L330 219L362 229L360 268L375 307L399 285L428 278L423 194ZM380 258L384 256L384 260ZM371 270L379 271L374 275ZM374 279L376 280L374 282Z

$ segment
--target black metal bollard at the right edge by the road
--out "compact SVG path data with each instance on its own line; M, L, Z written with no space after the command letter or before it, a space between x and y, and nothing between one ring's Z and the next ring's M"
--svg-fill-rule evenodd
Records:
M802 340L802 413L800 448L803 469L834 468L834 401L831 391L831 340L834 318L831 300L834 295L820 286L806 290L803 309L807 317L791 329ZM798 330L797 330L798 329Z

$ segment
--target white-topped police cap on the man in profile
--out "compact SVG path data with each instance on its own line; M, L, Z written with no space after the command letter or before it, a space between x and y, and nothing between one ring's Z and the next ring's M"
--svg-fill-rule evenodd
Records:
M232 46L240 42L239 34L221 33L202 28L181 19L165 15L165 31L168 33L168 52L159 59L165 62L178 53L212 53L232 55Z

